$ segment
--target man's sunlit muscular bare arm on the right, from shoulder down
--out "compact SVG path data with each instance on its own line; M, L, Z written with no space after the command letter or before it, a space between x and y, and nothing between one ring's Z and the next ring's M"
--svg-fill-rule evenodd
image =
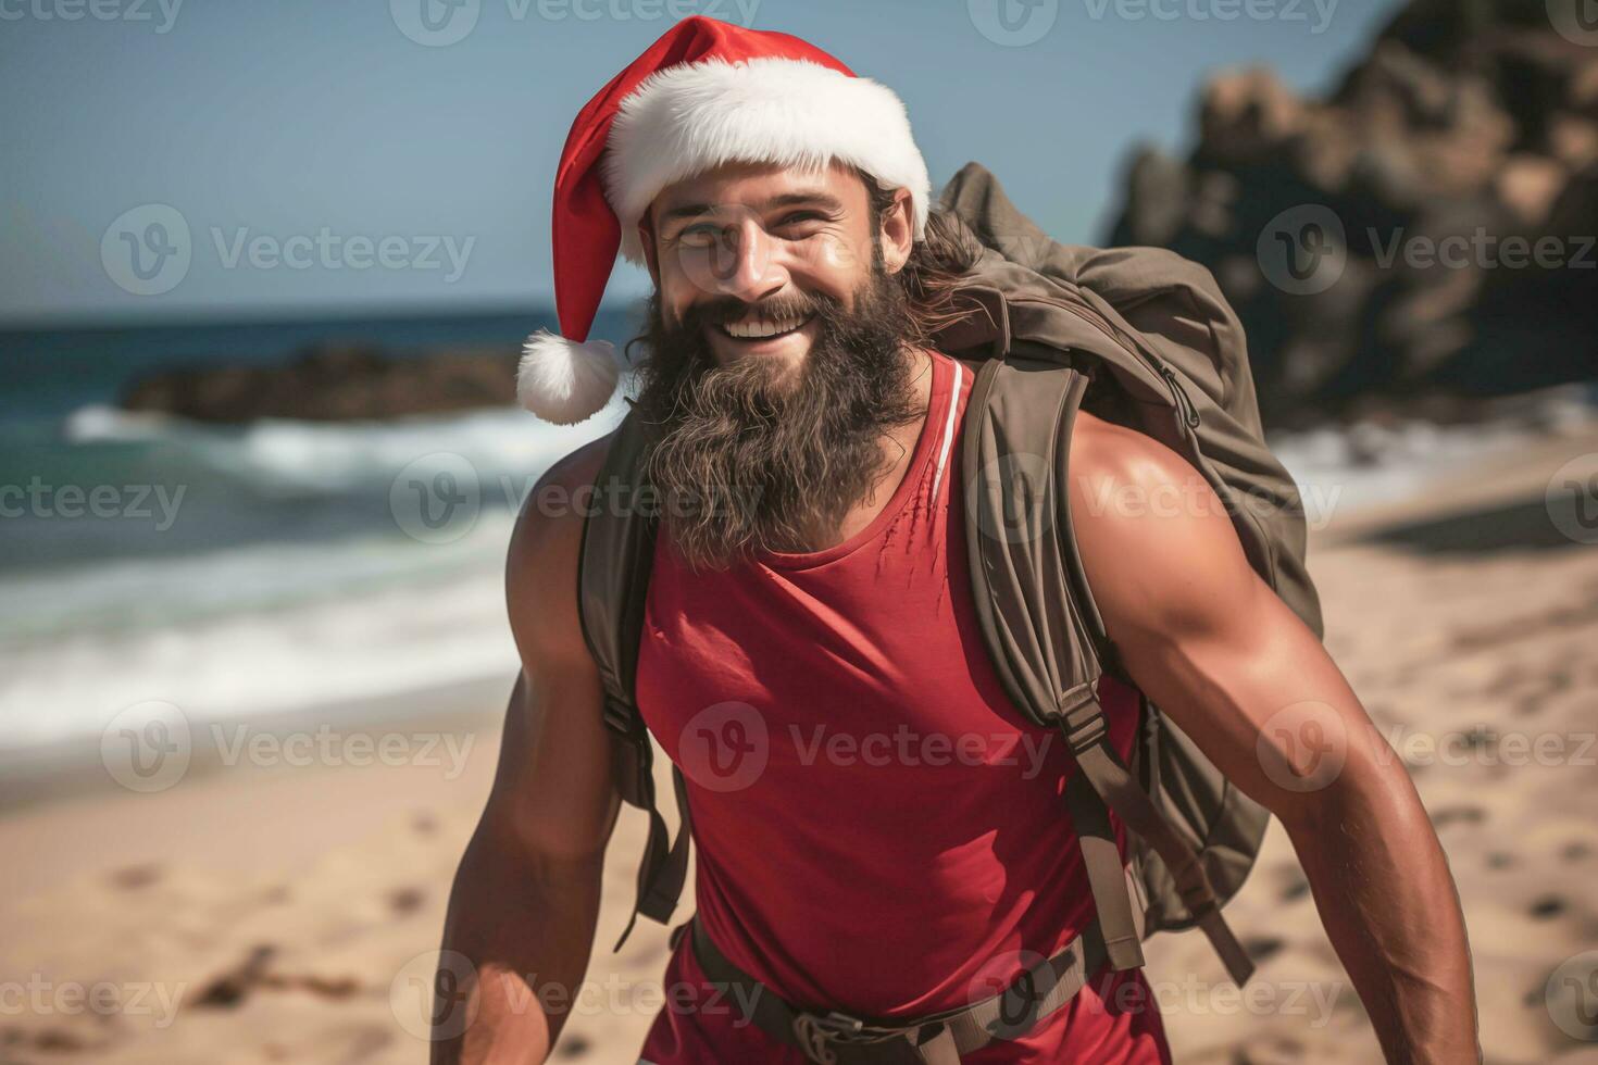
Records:
M1127 672L1282 819L1389 1062L1477 1062L1464 915L1403 763L1179 455L1083 415L1082 564Z

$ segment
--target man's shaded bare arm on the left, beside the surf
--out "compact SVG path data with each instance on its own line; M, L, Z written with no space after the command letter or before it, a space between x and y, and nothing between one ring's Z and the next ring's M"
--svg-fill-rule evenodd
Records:
M602 445L551 468L511 536L507 600L523 667L494 787L449 897L441 988L467 979L435 1016L433 1065L545 1060L588 968L618 797L599 675L577 621L582 519L535 503L547 485L570 498L591 484Z

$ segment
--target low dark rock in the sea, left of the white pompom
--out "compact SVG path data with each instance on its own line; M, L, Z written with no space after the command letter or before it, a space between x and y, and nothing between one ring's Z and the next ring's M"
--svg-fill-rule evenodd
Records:
M276 367L166 370L134 383L121 398L128 410L198 422L393 418L513 402L515 350L400 358L360 345L307 348Z

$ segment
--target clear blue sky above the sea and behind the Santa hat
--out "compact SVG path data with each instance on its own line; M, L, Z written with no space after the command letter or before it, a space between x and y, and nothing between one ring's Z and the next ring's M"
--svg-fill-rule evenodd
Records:
M885 81L935 185L980 160L1053 235L1093 241L1135 144L1189 147L1206 73L1264 62L1325 89L1392 10L449 2L0 0L0 324L547 302L550 187L572 117L694 13L797 34ZM179 227L179 273L141 281L115 265L129 243L171 252ZM620 268L610 295L646 284Z

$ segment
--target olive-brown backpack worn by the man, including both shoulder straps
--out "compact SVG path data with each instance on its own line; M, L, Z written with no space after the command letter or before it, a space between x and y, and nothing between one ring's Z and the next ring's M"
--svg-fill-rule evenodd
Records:
M1146 696L1130 760L1107 742L1099 677L1107 671L1136 685L1087 586L1064 492L1077 410L1154 436L1203 474L1253 568L1320 637L1302 503L1264 444L1242 326L1203 267L1154 247L1059 244L976 163L956 174L940 208L981 249L959 289L962 315L933 346L975 372L960 461L973 602L989 656L1016 709L1058 728L1075 755L1080 771L1067 779L1066 803L1111 966L1141 966L1147 934L1200 928L1242 985L1253 963L1221 907L1253 867L1269 813ZM630 412L601 482L642 498L644 445ZM638 913L670 921L690 838L686 786L673 766L681 825L668 845L633 696L657 524L646 509L596 508L578 562L617 786L649 814L638 905L617 950ZM1109 810L1130 830L1125 865Z

